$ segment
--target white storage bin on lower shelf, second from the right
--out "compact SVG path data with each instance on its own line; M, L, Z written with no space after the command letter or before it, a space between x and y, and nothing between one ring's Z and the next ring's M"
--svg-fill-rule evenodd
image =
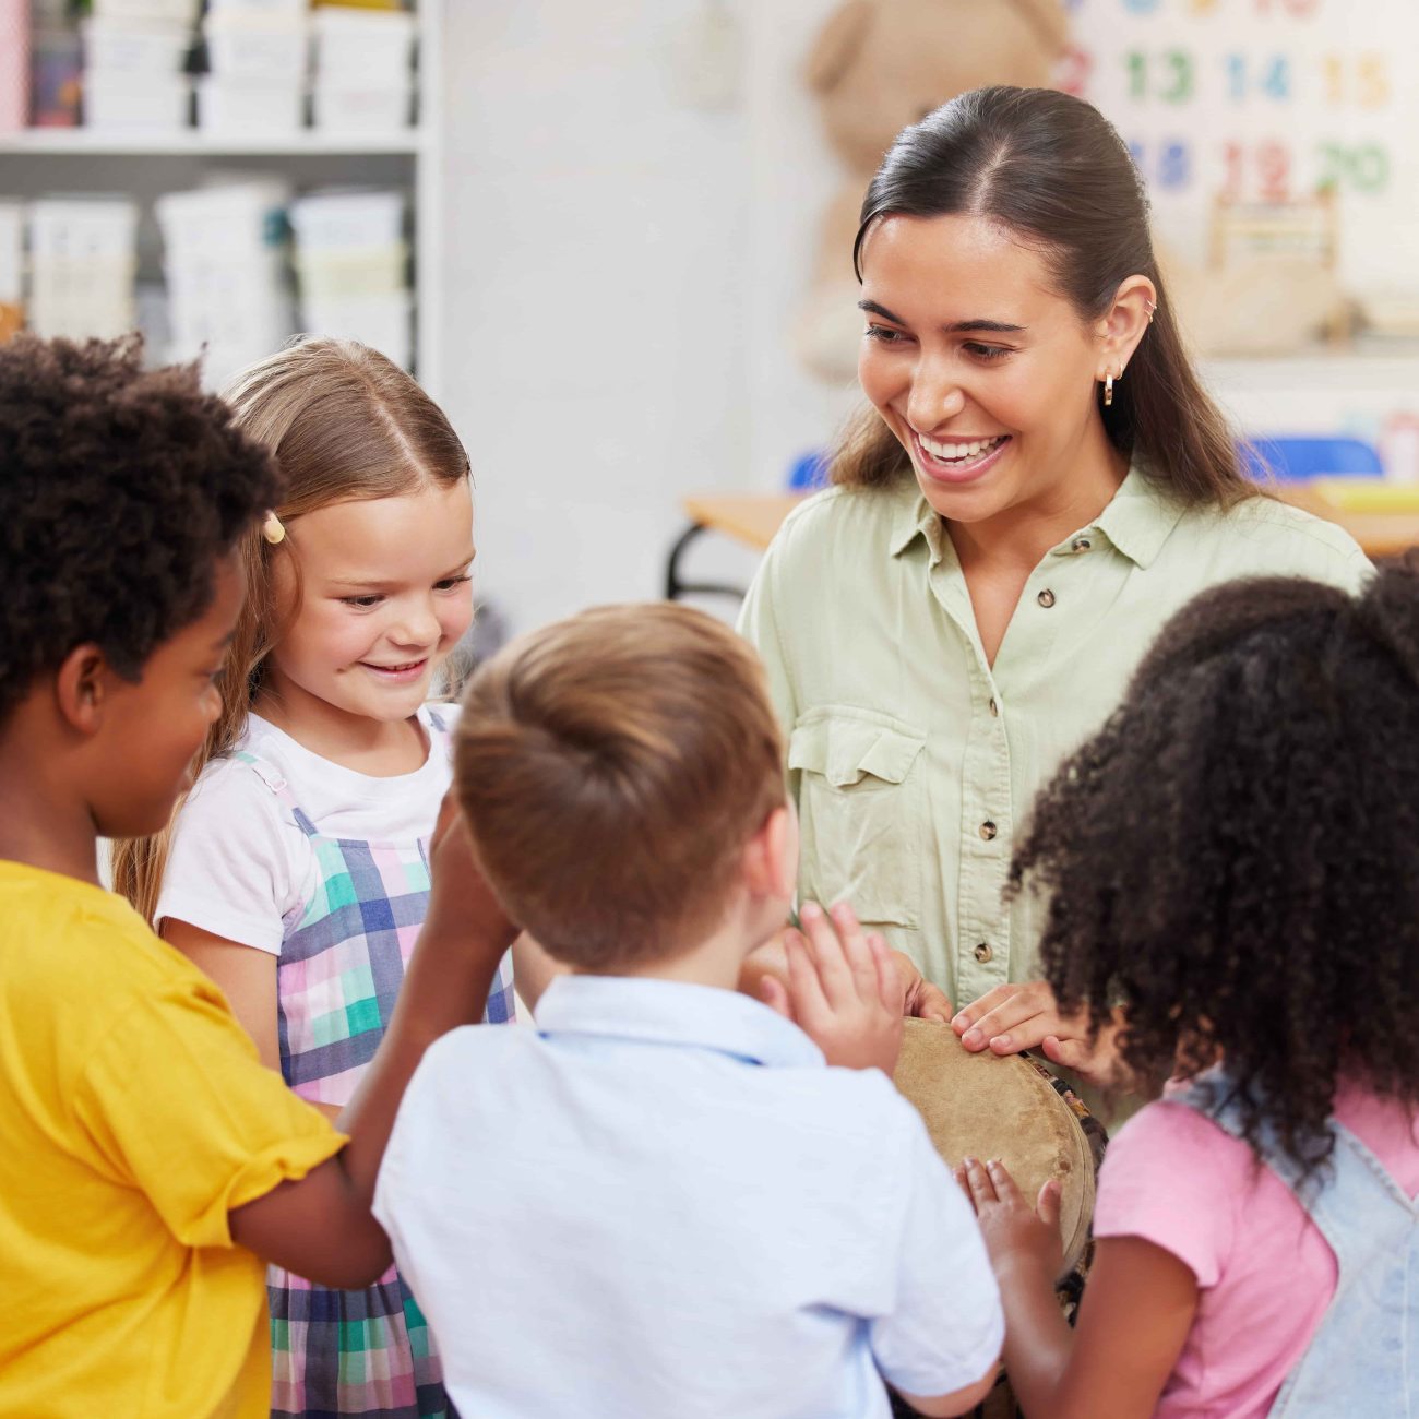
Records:
M203 382L223 385L294 329L280 179L231 182L158 199L167 277L169 359L203 356Z

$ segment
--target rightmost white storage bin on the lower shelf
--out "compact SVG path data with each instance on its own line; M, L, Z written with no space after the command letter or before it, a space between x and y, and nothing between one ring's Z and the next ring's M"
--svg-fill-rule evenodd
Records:
M301 328L362 341L413 368L404 194L329 189L291 203Z

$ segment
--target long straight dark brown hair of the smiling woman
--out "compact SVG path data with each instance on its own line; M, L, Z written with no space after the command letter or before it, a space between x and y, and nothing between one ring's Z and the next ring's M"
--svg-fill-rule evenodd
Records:
M883 217L985 217L1039 250L1080 318L1095 321L1131 275L1158 291L1152 325L1100 414L1110 441L1189 504L1233 504L1259 490L1239 468L1232 430L1183 349L1148 226L1148 194L1114 126L1053 89L982 88L904 129L863 200L853 245ZM890 487L907 450L870 406L849 424L832 480Z

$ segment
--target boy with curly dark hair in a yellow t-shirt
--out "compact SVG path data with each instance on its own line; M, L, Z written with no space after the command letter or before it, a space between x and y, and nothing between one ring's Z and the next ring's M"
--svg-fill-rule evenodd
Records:
M140 355L0 346L0 1415L265 1419L264 1263L389 1264L370 1196L404 1081L511 938L446 827L437 924L341 1132L99 885L99 834L156 832L190 783L237 548L281 495L196 372Z

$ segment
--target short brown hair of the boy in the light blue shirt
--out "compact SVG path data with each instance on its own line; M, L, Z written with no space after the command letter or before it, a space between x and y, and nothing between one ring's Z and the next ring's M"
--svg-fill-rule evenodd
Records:
M526 636L464 694L458 797L488 883L556 959L606 971L714 929L785 802L752 648L683 606L609 606Z

